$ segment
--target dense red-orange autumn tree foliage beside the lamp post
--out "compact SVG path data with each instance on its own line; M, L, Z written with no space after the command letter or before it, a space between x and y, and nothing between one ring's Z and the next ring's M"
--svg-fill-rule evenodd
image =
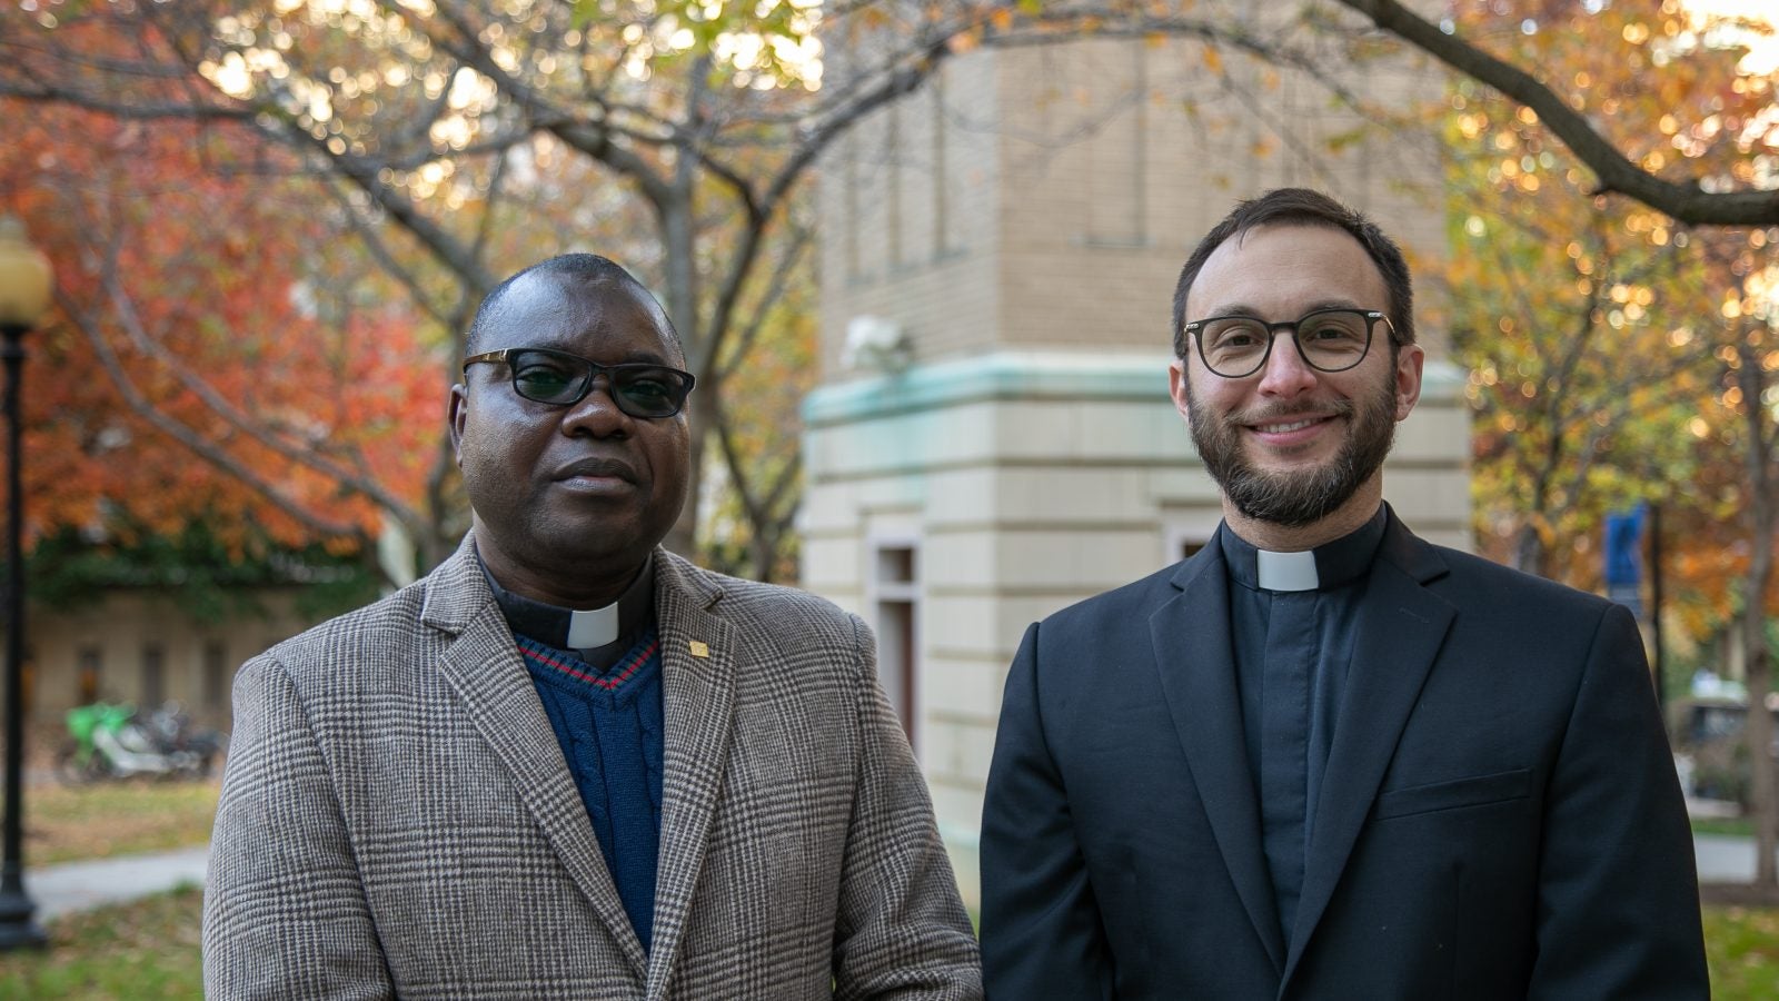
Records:
M345 556L423 520L438 369L402 310L311 253L336 224L228 176L254 150L189 123L7 110L0 205L60 262L23 383L32 534L201 524L237 559Z

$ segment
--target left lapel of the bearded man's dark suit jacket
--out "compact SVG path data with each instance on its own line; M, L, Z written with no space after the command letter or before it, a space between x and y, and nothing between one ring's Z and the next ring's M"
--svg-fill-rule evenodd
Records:
M1204 547L1181 565L1172 582L1179 593L1149 616L1162 693L1229 880L1274 967L1283 969L1279 908L1272 899L1260 837L1260 803L1244 750L1222 549Z

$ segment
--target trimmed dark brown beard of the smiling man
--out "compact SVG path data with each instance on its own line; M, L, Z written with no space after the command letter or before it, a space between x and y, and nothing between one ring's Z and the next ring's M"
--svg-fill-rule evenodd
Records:
M1363 399L1334 401L1336 415L1348 422L1347 442L1329 461L1292 472L1256 468L1242 454L1242 427L1290 420L1302 408L1213 415L1208 406L1188 406L1187 424L1204 468L1236 511L1256 522L1300 529L1338 511L1384 465L1384 456L1397 440L1395 410L1395 387L1389 379Z

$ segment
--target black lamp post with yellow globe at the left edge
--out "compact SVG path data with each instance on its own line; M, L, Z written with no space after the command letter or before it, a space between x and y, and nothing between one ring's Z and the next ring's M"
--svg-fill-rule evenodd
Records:
M18 397L25 335L50 310L50 260L30 246L25 226L0 216L0 362L5 363L7 565L5 565L5 832L0 862L0 951L41 946L25 892L25 502L20 488Z

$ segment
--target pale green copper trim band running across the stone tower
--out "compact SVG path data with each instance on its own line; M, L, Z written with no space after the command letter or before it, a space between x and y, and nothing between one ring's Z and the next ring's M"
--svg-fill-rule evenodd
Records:
M1448 362L1427 362L1423 397L1443 401L1461 397L1462 392L1464 376L1457 367ZM818 387L802 401L802 422L808 427L822 427L970 403L1026 399L1171 406L1167 356L1005 351L973 354L916 365L895 376Z

